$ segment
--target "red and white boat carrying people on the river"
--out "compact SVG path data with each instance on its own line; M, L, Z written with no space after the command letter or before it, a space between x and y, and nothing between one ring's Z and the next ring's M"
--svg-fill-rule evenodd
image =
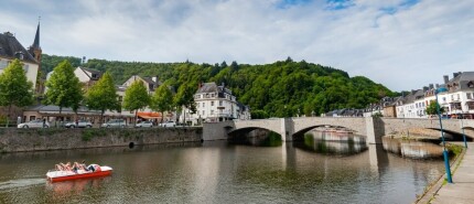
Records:
M107 176L112 173L112 168L107 165L90 164L94 171L77 170L76 171L61 171L50 170L46 173L46 178L51 182L69 181L86 178Z

